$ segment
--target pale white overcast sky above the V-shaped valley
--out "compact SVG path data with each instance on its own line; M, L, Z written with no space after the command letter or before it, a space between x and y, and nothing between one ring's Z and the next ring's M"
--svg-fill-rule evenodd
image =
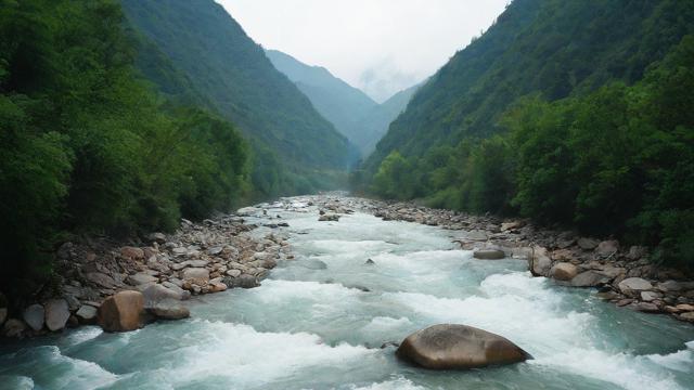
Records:
M216 0L256 42L381 102L433 75L509 0Z

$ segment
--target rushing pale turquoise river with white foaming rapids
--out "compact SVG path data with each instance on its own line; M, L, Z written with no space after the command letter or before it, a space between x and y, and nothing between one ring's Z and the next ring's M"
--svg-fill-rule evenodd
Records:
M532 278L524 261L475 260L455 232L306 211L269 212L290 223L296 259L261 287L194 299L185 321L0 347L0 389L694 389L691 325ZM497 333L536 359L430 372L381 349L438 323Z

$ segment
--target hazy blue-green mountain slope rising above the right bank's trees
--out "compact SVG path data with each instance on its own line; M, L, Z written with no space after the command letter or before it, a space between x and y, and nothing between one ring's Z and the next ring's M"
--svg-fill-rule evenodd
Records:
M692 21L691 2L515 0L419 90L367 167L375 171L396 150L422 156L498 133L502 113L526 94L557 100L634 82Z

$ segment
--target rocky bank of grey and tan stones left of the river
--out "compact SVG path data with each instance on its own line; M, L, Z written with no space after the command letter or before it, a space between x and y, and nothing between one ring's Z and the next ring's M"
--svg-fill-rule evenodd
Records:
M182 301L191 296L259 286L268 270L292 257L285 238L257 234L256 227L231 214L183 220L175 234L153 233L127 245L108 238L65 243L55 253L53 286L35 302L18 306L0 297L1 335L31 337L95 323L128 330L185 317ZM137 315L124 317L128 311Z

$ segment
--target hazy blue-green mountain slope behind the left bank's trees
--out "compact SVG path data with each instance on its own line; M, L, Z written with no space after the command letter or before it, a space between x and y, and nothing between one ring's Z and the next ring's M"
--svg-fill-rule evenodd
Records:
M141 72L175 101L205 104L252 141L254 178L268 195L320 187L356 152L213 0L123 0L142 49ZM164 64L164 65L163 65ZM282 176L285 183L268 178ZM288 183L287 183L288 181Z

